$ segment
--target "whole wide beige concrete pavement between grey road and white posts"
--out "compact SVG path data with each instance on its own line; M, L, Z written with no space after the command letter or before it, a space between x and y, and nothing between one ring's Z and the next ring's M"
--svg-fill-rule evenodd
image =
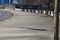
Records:
M14 16L0 22L1 40L53 40L53 19L51 17L11 9L3 11L9 11Z

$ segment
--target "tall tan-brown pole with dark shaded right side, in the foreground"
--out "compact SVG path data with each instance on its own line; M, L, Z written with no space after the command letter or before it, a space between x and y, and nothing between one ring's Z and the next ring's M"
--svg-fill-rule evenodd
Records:
M59 0L55 0L54 7L54 40L59 40Z

